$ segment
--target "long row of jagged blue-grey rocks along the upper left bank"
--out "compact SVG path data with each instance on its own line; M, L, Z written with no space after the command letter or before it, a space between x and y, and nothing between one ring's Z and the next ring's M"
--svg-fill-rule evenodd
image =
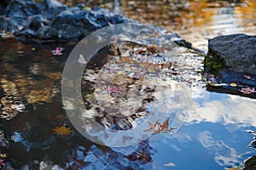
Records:
M68 8L56 0L13 0L0 16L1 30L13 32L21 42L67 42L79 41L92 31L120 23L138 23L121 14L102 8L84 8L83 4ZM164 29L155 28L163 32ZM175 33L167 34L170 42L186 48L191 44ZM161 39L165 39L162 37ZM153 38L154 39L154 38ZM168 44L166 44L168 45ZM170 44L172 46L172 44Z

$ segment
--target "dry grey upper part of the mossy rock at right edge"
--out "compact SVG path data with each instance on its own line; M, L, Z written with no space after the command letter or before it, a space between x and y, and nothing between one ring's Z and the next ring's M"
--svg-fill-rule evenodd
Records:
M234 34L209 40L208 56L213 60L224 59L229 71L256 75L256 36Z

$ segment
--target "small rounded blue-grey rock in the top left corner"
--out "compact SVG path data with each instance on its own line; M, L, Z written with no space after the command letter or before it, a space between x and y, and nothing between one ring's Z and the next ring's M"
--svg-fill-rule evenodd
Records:
M27 18L35 14L39 14L40 9L33 0L13 0L5 9L5 15L8 17L18 16Z

